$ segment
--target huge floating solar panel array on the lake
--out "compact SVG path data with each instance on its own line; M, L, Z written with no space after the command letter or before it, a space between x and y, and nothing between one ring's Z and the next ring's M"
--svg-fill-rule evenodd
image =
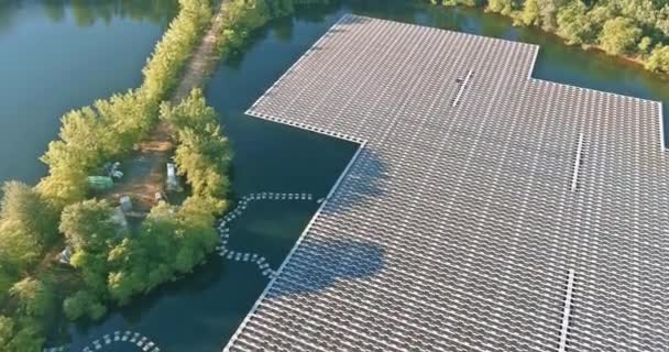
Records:
M669 351L661 105L538 51L327 32L249 114L361 147L226 351Z

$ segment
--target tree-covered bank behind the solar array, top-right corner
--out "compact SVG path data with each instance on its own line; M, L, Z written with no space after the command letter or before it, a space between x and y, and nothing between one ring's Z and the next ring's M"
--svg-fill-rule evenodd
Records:
M604 51L669 74L669 3L654 0L430 0L483 7L537 26L569 45Z

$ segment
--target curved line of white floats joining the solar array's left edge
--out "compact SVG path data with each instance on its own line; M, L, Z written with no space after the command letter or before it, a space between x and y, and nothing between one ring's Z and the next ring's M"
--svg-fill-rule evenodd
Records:
M235 252L228 248L228 240L230 238L230 229L229 226L234 219L242 216L246 207L252 201L260 200L272 200L272 201L314 201L314 195L311 194L283 194L283 193L271 193L263 191L256 194L250 194L241 198L238 202L237 207L229 211L218 223L218 233L220 243L216 248L218 254L228 261L234 262L251 262L257 265L257 268L261 271L263 276L267 276L273 278L275 275L275 271L270 266L267 260L257 254L251 252Z

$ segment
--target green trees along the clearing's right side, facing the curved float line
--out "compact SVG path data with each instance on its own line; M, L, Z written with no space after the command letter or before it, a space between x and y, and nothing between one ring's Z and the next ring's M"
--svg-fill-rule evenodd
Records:
M177 167L193 195L180 207L166 202L155 206L139 233L109 251L107 288L119 304L202 262L217 243L216 215L227 206L230 148L220 134L218 116L206 105L201 91L194 89L175 107L163 103L161 119L174 130Z

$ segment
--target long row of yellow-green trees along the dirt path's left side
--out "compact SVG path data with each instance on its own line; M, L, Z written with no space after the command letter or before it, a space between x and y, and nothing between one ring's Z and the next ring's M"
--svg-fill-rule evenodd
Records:
M155 124L157 107L174 88L178 75L211 19L209 0L180 0L179 14L156 44L136 90L98 100L66 113L61 140L51 142L42 161L48 176L37 189L55 206L85 199L86 177L112 158L132 150Z

